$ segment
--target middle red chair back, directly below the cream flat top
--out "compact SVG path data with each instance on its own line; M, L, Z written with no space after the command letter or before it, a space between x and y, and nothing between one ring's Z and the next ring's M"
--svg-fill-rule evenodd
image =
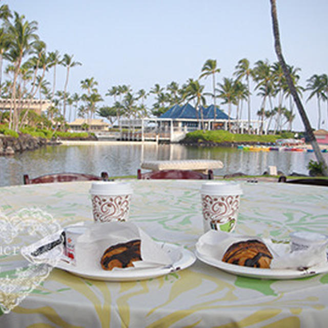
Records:
M203 174L192 170L161 170L141 173L137 171L138 179L197 179L197 180L213 180L213 171L209 170L208 174Z

